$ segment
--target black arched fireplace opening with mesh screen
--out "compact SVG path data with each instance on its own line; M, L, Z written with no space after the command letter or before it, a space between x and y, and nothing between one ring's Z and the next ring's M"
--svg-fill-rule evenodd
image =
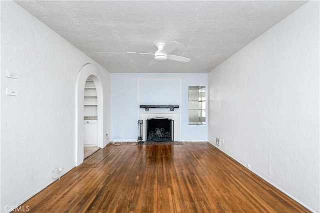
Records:
M173 141L173 120L169 118L146 119L146 141Z

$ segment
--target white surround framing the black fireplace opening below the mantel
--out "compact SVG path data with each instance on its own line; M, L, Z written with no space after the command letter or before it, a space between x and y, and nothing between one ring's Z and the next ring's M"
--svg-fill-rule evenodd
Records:
M142 135L143 141L145 141L145 121L150 118L168 118L173 120L173 141L177 141L178 135L178 114L177 113L141 113L140 120L143 121L142 124Z

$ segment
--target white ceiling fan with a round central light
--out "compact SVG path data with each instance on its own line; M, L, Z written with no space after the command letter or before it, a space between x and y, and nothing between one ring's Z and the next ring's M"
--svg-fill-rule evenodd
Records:
M143 53L143 52L127 52L127 54L142 54L142 55L154 55L154 59L149 63L148 66L153 65L156 61L164 61L166 59L173 61L181 61L181 62L189 62L191 59L178 56L178 55L169 55L176 47L178 47L179 43L172 41L169 44L165 43L156 43L155 47L158 49L154 54L151 53Z

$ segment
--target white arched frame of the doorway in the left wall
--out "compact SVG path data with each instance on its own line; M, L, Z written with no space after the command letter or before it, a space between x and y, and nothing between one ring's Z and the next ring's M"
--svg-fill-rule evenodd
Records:
M89 77L90 76L90 77ZM76 88L76 144L75 144L75 165L83 162L83 140L84 140L84 87L88 79L92 80L96 90L96 115L97 115L97 147L103 148L103 89L101 83L101 73L93 64L85 64L81 67Z

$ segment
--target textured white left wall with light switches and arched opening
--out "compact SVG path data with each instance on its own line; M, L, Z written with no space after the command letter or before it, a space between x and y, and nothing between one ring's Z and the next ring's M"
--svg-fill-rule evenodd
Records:
M80 68L101 72L109 116L109 73L12 1L1 1L1 209L50 184L52 170L75 166ZM18 79L6 78L6 70ZM18 96L5 95L17 88ZM103 129L109 132L109 118ZM107 141L104 141L106 143Z

